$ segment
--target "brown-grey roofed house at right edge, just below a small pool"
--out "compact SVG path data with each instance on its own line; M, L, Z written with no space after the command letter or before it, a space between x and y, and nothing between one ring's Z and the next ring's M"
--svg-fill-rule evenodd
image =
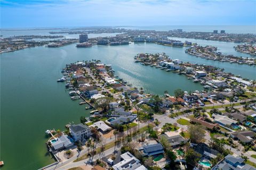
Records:
M236 131L230 133L230 137L244 143L251 143L255 138L255 134L252 131Z

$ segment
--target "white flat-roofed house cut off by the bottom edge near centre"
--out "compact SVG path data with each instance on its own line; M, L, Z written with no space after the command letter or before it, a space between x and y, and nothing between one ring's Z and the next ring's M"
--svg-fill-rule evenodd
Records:
M119 163L113 165L115 170L147 170L147 168L140 164L140 160L134 157L130 152L125 152L120 156Z

